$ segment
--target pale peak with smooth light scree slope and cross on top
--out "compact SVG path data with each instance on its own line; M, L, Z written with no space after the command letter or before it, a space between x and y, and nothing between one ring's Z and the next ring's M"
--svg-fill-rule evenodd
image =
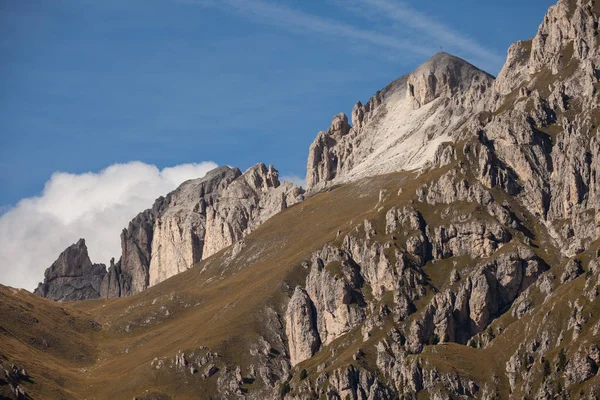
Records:
M338 114L327 132L319 132L309 149L307 189L422 167L481 110L492 83L492 76L464 60L435 55L365 105L357 103L352 126Z

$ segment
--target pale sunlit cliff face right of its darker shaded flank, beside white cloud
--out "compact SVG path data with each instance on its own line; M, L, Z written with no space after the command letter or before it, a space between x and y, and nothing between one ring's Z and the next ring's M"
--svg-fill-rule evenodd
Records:
M302 195L293 184L280 184L277 171L264 164L243 174L221 167L182 184L155 223L150 286L232 245Z

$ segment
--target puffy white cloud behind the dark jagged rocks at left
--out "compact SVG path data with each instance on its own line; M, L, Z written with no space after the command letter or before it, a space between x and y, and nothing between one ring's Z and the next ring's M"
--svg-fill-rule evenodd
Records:
M179 184L216 168L212 162L159 170L142 162L98 173L54 173L42 194L0 216L0 283L32 290L69 245L85 238L90 258L121 254L120 233L139 212Z

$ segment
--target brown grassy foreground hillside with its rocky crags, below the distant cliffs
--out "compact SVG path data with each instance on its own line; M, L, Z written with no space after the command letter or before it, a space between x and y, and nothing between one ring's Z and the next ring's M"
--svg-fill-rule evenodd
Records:
M587 393L597 378L567 376L593 360L598 246L585 273L565 267L533 215L459 163L320 193L135 296L2 288L3 366L25 368L12 382L32 398L386 399L535 393L548 360L548 382Z

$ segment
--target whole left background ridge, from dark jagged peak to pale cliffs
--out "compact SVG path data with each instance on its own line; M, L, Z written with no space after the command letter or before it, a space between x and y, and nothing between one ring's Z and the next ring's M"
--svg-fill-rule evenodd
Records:
M241 240L303 196L301 188L289 182L281 184L273 166L257 164L243 174L237 168L217 168L203 178L184 182L138 214L121 233L121 259L112 260L108 272L93 269L93 290L84 290L84 283L65 275L69 268L78 268L79 259L61 256L63 267L47 271L47 281L54 283L40 286L37 293L57 299L139 293ZM91 279L88 264L89 258L82 267L84 280ZM65 290L71 290L60 288L67 281L82 286L81 290L63 296Z

